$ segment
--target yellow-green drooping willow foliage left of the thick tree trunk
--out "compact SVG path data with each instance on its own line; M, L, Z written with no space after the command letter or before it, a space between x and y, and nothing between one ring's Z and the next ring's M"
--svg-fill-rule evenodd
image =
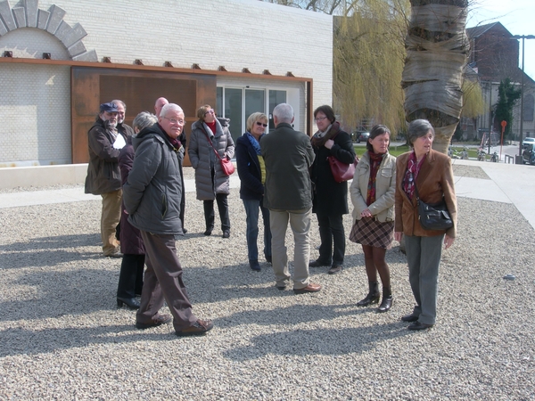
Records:
M334 19L333 108L346 127L373 119L396 133L405 125L399 82L408 1L361 1L351 10Z

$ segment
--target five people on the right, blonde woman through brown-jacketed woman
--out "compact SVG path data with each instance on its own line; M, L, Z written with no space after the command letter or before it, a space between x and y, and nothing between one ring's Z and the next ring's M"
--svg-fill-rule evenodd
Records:
M265 135L267 116L251 114L247 132L236 143L240 195L247 216L249 263L251 269L260 270L257 237L261 211L264 254L273 264L276 288L284 290L291 285L284 243L290 223L295 242L293 291L320 291L319 284L309 282L309 267L327 266L328 274L342 271L346 242L342 217L349 212L348 184L335 179L330 159L346 165L353 163L353 143L328 105L314 111L318 130L312 138L293 129L289 104L276 106L273 119L276 129ZM402 320L411 323L409 330L424 330L436 320L442 243L448 249L456 236L453 171L449 157L432 150L434 129L429 121L416 119L410 123L407 139L412 150L398 159L388 151L390 137L388 127L372 128L350 185L354 207L350 241L362 245L369 286L366 297L357 305L379 303L378 274L383 297L376 310L383 313L391 309L391 274L385 255L392 241L401 241L404 236L416 307ZM453 226L447 230L425 230L420 224L416 195L430 204L445 202ZM310 262L311 213L317 215L321 244L319 257Z

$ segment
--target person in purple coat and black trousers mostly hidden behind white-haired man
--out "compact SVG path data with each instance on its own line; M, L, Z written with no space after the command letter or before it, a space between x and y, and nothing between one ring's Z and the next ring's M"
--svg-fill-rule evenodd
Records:
M134 119L134 130L139 133L144 127L151 127L158 121L153 114L142 111ZM128 136L128 142L119 153L120 178L124 185L128 180L128 174L134 164L134 147L132 136ZM120 265L119 284L117 286L117 306L126 304L131 309L139 309L139 301L136 294L141 294L143 288L144 271L144 243L139 230L128 223L128 214L125 204L121 204L120 214L120 251L123 254Z

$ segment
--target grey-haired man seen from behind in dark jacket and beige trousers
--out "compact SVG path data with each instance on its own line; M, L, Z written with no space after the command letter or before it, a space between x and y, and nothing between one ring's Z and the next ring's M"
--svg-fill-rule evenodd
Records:
M293 291L296 294L320 291L320 285L309 282L312 214L309 168L314 161L314 151L309 136L293 129L293 109L290 104L277 105L273 110L273 119L276 129L262 137L260 148L266 163L264 207L269 209L276 288L285 290L290 285L284 243L290 221L295 242Z

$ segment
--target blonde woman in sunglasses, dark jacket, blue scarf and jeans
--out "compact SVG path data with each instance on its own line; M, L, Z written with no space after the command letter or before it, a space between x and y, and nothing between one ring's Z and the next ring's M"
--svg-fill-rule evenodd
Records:
M247 119L247 132L236 141L236 164L240 176L240 198L245 207L247 218L247 253L249 266L259 271L259 210L264 220L264 256L271 263L271 231L269 229L269 210L262 206L266 168L260 155L260 137L268 127L268 116L252 113Z

